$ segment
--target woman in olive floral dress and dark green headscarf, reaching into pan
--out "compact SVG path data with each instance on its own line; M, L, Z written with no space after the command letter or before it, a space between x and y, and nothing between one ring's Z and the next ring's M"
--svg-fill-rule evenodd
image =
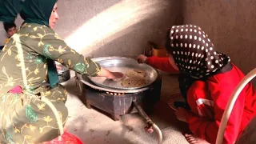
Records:
M9 1L9 0L8 0ZM18 0L19 1L19 0ZM54 61L90 76L120 78L78 54L54 33L58 20L57 0L25 0L25 20L0 54L0 139L2 143L48 142L59 135L47 98L66 122L66 90L58 84ZM42 82L50 82L50 88ZM1 142L0 142L1 143Z

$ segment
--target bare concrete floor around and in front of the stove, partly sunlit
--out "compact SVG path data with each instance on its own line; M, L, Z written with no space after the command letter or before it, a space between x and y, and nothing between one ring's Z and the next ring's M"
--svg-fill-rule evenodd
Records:
M162 130L163 143L186 144L182 133L188 131L186 123L178 122L174 111L167 105L170 95L178 93L178 80L170 74L162 74L161 101L154 106L150 118ZM66 123L69 132L75 134L85 144L149 144L158 143L156 133L146 133L146 123L138 114L126 114L120 121L111 118L94 109L87 109L78 98L78 89L74 78L64 84L69 92L66 106L70 118Z

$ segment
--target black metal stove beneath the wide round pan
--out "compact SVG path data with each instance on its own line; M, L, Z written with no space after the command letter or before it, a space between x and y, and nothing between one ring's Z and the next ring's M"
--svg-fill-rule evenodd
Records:
M79 82L79 81L78 81ZM80 97L85 101L86 107L102 110L114 121L118 121L121 115L136 113L134 101L142 106L146 113L153 112L154 104L160 100L162 79L159 77L149 89L138 93L113 93L110 91L97 90L91 86L79 82Z

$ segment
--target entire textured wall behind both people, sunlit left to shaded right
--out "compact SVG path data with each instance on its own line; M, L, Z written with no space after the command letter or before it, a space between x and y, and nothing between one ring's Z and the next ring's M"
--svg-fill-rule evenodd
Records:
M148 40L160 43L170 26L192 23L248 73L256 67L255 7L254 0L62 0L55 30L87 56L134 57ZM0 45L5 38L0 24Z

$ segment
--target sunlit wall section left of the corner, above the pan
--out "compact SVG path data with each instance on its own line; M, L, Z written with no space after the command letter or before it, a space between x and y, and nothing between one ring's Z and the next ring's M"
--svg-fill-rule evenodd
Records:
M148 40L161 42L181 24L182 2L174 0L65 0L58 2L58 34L90 57L137 56Z

